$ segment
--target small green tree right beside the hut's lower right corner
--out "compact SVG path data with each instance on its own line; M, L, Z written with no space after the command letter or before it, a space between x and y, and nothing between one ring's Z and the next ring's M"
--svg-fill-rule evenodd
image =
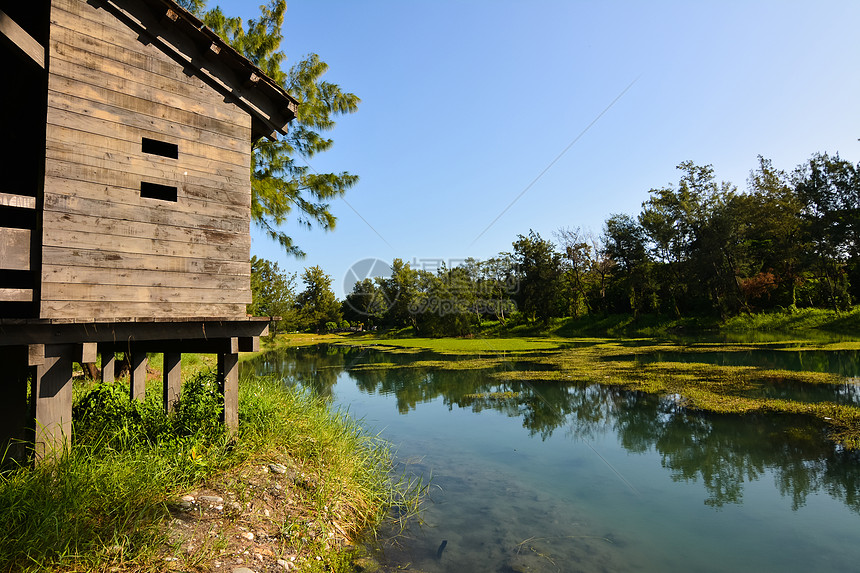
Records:
M272 333L297 326L296 275L288 274L266 259L251 257L251 297L248 314L268 316ZM276 317L280 319L275 320Z

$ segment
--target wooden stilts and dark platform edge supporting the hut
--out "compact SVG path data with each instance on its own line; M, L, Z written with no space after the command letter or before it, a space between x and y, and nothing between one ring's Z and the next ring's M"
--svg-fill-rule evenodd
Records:
M72 365L95 362L98 354L102 379L110 381L115 378L115 353L126 353L130 395L143 400L146 353L163 353L162 396L168 411L181 393L182 353L215 354L218 386L224 396L221 421L235 432L239 425L239 352L258 348L255 338L264 327L252 319L83 324L0 318L0 360L5 365L0 372L0 457L10 440L22 444L22 455L16 458L25 460L35 453L37 462L61 453L71 443ZM51 342L40 342L44 340Z

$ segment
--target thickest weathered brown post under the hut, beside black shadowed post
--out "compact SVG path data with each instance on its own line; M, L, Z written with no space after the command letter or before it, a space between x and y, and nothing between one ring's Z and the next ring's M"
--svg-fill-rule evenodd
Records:
M72 358L69 345L45 345L45 362L35 367L32 399L36 418L36 461L58 455L72 437Z

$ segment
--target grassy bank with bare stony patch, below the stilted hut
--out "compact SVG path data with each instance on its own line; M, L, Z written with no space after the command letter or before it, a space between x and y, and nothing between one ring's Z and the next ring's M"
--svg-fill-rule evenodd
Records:
M73 446L0 474L0 570L352 571L363 532L414 510L387 444L308 392L243 378L230 437L211 375L171 416L156 386L78 384Z

